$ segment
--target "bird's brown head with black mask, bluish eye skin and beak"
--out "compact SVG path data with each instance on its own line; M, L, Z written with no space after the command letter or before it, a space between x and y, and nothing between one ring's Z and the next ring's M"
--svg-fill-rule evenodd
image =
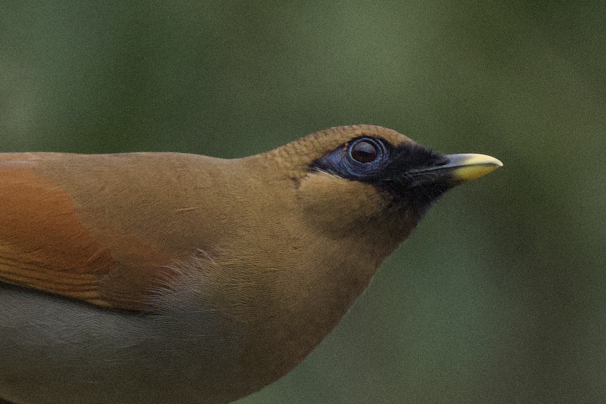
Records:
M438 154L373 125L319 131L262 156L291 181L311 227L370 242L382 257L445 191L502 165L484 154Z

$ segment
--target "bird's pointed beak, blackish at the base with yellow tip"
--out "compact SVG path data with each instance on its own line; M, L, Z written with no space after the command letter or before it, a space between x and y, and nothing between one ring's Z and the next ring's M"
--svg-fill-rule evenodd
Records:
M408 174L427 184L442 182L451 186L483 177L503 166L503 163L486 154L446 154L443 164L408 171Z

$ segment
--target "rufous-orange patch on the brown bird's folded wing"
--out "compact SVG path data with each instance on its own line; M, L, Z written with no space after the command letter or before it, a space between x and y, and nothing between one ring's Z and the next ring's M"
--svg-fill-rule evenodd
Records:
M112 306L98 280L115 265L59 185L27 164L0 166L0 280Z

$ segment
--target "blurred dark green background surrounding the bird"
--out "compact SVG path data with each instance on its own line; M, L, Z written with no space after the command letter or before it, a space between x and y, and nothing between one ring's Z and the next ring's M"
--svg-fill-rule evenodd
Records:
M604 1L4 0L0 150L235 157L367 123L496 156L239 404L604 403L605 21Z

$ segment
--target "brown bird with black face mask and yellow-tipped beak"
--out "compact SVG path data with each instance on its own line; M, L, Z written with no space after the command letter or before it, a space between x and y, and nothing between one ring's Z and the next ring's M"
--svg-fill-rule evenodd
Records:
M375 125L235 159L0 153L0 397L222 404L295 368L450 188Z

